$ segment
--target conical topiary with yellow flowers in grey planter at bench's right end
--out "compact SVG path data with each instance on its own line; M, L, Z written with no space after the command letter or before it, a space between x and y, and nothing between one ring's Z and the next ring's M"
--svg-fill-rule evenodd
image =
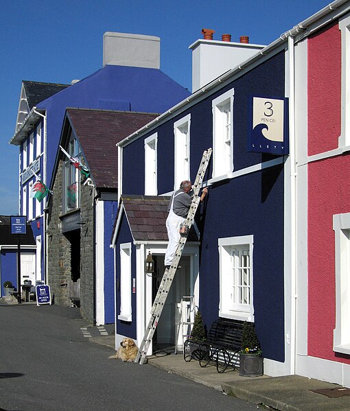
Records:
M242 350L240 351L240 375L259 377L264 373L264 357L260 349L253 322L244 321Z

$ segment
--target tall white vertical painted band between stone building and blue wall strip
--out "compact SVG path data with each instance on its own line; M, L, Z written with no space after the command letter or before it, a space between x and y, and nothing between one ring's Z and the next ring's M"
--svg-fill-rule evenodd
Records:
M101 200L95 203L95 241L96 325L104 325L104 202Z

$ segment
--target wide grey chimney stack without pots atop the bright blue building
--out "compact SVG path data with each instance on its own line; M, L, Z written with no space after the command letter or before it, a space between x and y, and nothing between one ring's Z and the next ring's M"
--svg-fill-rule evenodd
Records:
M142 34L104 33L103 65L161 67L161 39Z

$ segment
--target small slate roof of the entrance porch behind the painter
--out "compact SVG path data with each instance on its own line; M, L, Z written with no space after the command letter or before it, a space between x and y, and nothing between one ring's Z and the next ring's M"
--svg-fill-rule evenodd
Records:
M121 196L132 237L135 241L167 242L167 196ZM120 213L120 209L119 209ZM194 228L189 231L189 241L198 241Z

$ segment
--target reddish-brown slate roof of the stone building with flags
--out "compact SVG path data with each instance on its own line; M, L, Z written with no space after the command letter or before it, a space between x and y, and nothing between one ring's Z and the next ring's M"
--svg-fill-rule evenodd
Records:
M152 121L157 114L67 108L67 117L80 141L95 185L117 188L116 144Z

